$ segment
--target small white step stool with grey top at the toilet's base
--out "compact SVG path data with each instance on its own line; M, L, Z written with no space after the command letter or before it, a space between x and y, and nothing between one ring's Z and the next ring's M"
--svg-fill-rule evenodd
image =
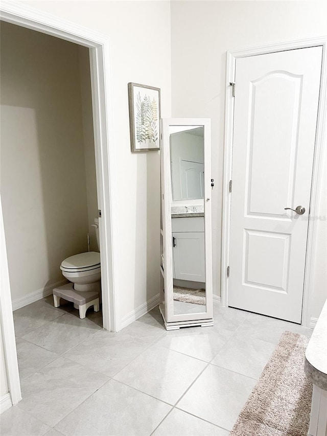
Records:
M94 311L99 312L100 301L99 293L96 291L81 292L76 291L73 288L73 283L67 283L66 285L60 286L59 288L54 288L53 290L53 302L55 307L60 306L60 299L71 301L74 303L74 307L80 312L80 318L85 318L86 310L90 306L94 306Z

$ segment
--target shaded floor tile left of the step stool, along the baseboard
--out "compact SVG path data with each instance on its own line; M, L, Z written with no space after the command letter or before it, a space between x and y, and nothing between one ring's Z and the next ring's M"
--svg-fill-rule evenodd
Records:
M45 306L42 300L29 304L13 312L15 336L22 337L29 332L62 316L62 312Z

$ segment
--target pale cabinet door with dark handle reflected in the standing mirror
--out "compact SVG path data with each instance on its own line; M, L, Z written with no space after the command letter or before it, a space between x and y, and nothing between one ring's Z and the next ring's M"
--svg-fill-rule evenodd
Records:
M205 282L204 232L173 233L174 278Z

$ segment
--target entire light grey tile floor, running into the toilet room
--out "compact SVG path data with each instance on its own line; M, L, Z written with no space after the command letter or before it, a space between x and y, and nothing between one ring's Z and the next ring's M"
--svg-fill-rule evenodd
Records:
M214 304L214 327L167 332L158 308L119 333L52 297L14 312L22 401L17 436L227 436L285 330L301 326Z

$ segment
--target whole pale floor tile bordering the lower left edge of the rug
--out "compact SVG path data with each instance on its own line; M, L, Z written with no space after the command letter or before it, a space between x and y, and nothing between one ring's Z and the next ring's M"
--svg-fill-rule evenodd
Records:
M255 380L209 364L176 407L231 430Z

